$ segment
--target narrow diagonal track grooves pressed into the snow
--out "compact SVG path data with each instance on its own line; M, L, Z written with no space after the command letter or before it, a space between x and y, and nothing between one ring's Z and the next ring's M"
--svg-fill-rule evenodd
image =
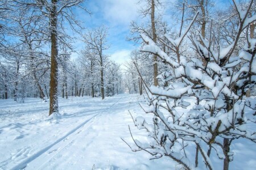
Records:
M115 104L117 104L121 99L123 99L125 96L122 96L120 99L118 99L117 101L115 101L115 103L113 103L112 105L110 105L110 107L107 107L105 109L105 111L108 111L110 108L112 108ZM95 118L96 116L98 116L99 114L102 114L102 112L100 113L95 113L96 115L94 115L93 117L89 118L88 120L82 122L80 125L76 126L76 128L72 129L71 131L69 131L67 134L65 134L63 137L57 139L57 141L55 141L54 143L52 143L51 145L48 145L47 147L44 147L42 150L36 152L34 155L28 157L26 160L23 160L23 162L19 163L18 165L15 165L15 167L11 168L11 170L16 170L16 169L25 169L25 168L32 168L29 167L28 164L31 163L32 161L34 161L36 158L38 158L39 156L43 155L44 153L46 153L48 150L50 150L52 147L58 145L61 141L65 142L65 139L67 139L67 137L69 137L70 135L72 135L73 133L75 133L75 131L79 130L80 128L82 128L85 124L87 124L90 120L92 120L93 118ZM80 131L77 133L79 134ZM51 154L52 152L56 152L55 155L60 152L61 150L63 150L63 148L65 148L66 146L68 146L69 144L71 144L73 142L73 140L71 142L68 142L66 145L64 145L64 147L61 147L61 149L54 149L50 152L48 152L48 154ZM58 151L59 150L59 151ZM55 155L52 155L51 158ZM38 167L38 169L40 169L41 167L43 167L44 164L46 164L48 162L49 159L46 160L46 162L41 163L40 167Z

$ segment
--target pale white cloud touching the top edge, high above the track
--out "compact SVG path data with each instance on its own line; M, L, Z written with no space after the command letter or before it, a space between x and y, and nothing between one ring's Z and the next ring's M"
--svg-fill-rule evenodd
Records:
M129 25L137 17L137 0L105 0L104 17L112 24Z

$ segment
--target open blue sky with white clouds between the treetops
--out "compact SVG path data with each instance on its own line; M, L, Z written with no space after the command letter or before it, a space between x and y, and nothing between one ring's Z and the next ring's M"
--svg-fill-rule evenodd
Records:
M122 64L129 60L130 52L138 48L134 42L126 41L129 35L129 25L132 20L138 20L138 0L86 0L85 5L92 15L85 11L76 11L78 18L84 22L84 27L95 28L105 24L109 28L108 42L110 48L105 54L111 56L115 62ZM175 0L167 0L168 5ZM217 6L224 7L225 3L232 3L231 0L216 0ZM170 19L170 16L166 16ZM85 44L77 41L75 46L77 50L83 48ZM72 54L76 58L77 54Z

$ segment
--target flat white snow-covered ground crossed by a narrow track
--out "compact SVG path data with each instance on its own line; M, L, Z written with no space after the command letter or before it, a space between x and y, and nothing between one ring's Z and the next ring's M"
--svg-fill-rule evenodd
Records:
M0 169L179 169L168 158L149 160L146 152L132 152L122 141L133 143L128 125L135 138L145 139L128 112L150 119L139 102L141 96L128 94L70 97L59 100L60 117L48 117L49 103L39 99L0 100ZM252 142L238 139L232 150L230 169L256 168ZM213 163L222 169L222 162Z

